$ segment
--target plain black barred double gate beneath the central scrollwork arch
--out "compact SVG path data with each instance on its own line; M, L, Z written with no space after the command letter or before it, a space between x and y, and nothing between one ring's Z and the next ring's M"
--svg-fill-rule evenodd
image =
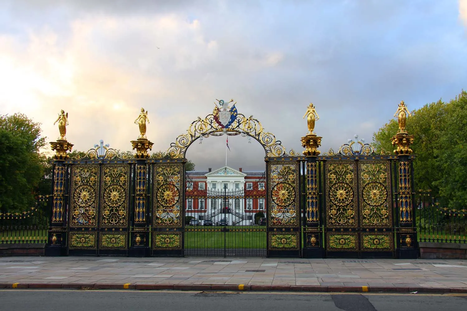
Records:
M193 182L186 184L193 185ZM266 256L266 223L255 224L255 214L247 203L247 200L265 200L266 191L259 189L258 184L249 190L187 187L184 255ZM191 204L193 200L203 202L204 208L200 209L199 204L188 207L188 202Z

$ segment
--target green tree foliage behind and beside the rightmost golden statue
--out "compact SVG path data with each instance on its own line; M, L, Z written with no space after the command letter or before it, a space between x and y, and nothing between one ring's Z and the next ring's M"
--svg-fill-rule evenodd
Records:
M412 111L407 132L414 135L411 146L417 189L432 189L451 208L467 206L467 93L445 103L441 100ZM390 138L397 133L396 120L390 120L373 134L379 150L392 151Z

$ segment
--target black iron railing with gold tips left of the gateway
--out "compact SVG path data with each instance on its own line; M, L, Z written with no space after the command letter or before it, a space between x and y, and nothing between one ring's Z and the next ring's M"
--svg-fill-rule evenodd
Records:
M22 212L0 213L0 244L46 243L50 211L48 197Z

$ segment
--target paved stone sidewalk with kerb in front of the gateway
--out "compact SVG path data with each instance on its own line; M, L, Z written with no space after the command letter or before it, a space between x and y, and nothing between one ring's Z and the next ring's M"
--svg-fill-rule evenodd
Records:
M467 261L0 257L0 288L467 293Z

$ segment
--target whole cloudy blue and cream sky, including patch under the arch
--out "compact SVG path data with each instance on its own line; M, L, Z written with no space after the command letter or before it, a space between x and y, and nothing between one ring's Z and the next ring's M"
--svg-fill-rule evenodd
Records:
M367 142L404 100L417 109L467 88L467 0L3 0L0 114L42 123L69 113L67 138L130 150L149 111L166 150L214 100L233 98L302 151L312 102L321 152ZM229 166L264 169L262 146L229 137ZM225 165L225 136L195 142L197 170Z

